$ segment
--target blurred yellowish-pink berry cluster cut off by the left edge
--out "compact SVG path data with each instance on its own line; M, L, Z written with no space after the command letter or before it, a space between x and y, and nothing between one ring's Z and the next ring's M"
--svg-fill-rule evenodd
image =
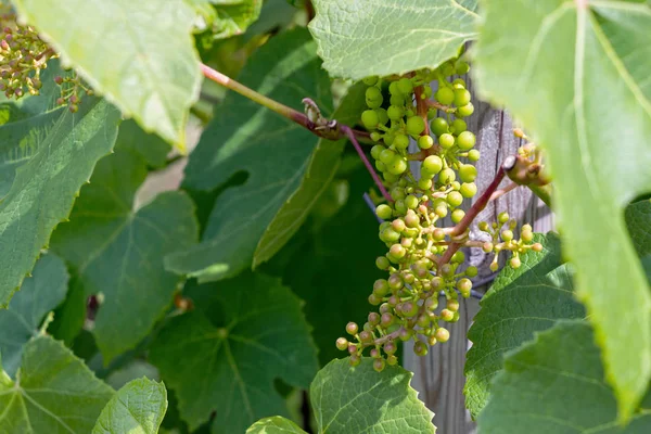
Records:
M18 25L15 14L7 12L0 39L0 90L7 98L20 99L25 93L38 94L42 87L41 69L56 53L30 26Z

